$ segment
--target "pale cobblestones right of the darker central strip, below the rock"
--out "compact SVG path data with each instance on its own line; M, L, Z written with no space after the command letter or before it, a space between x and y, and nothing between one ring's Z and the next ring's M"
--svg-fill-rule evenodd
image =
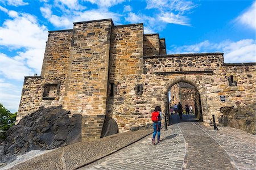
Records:
M214 131L196 124L204 129L212 138L224 148L237 169L256 169L256 137L242 130L230 127L220 127Z

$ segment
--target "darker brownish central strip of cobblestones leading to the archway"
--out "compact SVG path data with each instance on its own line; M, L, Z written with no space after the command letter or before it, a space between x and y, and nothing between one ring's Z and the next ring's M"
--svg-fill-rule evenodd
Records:
M226 151L203 129L193 122L179 126L187 144L184 169L236 169Z

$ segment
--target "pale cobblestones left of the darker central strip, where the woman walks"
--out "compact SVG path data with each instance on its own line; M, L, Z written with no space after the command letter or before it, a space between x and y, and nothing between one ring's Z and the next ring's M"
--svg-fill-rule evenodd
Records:
M181 169L185 141L179 126L161 130L162 142L152 145L151 135L107 158L81 169Z

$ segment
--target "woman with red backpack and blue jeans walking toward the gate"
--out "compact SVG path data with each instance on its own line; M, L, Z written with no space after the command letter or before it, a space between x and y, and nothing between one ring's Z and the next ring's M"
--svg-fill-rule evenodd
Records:
M154 122L153 123L154 133L153 133L152 143L153 145L155 145L156 133L158 133L158 143L160 142L162 110L159 106L155 107L154 112L151 113L151 120Z

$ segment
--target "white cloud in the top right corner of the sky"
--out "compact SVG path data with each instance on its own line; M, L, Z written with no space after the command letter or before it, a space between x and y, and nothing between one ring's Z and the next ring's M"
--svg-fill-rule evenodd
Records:
M256 29L256 1L242 15L237 17L236 22L243 26Z

